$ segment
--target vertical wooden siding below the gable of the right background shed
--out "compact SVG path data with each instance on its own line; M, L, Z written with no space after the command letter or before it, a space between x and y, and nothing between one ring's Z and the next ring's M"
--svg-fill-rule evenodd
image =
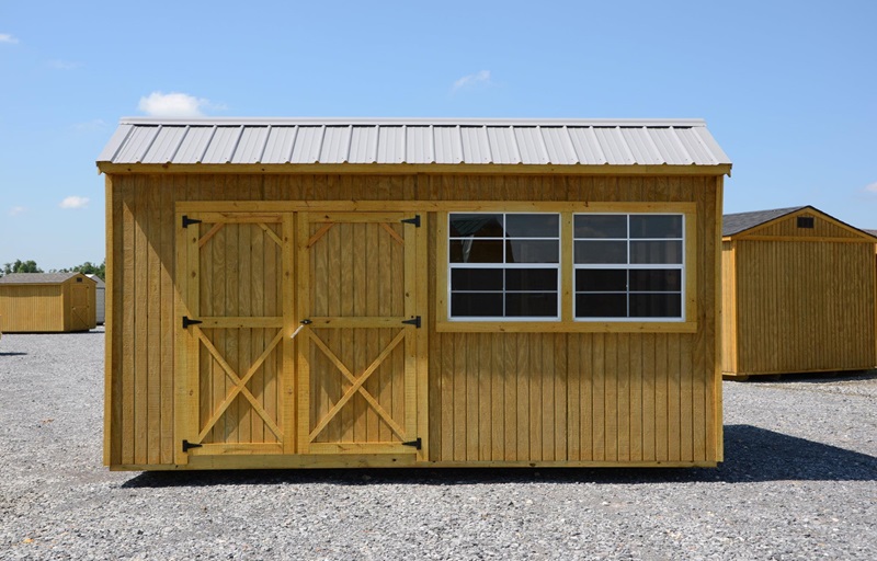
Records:
M856 370L877 364L872 244L736 243L737 368L730 371Z

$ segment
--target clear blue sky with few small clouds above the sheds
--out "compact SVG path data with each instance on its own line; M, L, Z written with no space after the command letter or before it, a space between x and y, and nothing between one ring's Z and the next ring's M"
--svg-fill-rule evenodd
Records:
M126 116L704 118L725 210L877 229L877 2L0 0L0 265L104 259Z

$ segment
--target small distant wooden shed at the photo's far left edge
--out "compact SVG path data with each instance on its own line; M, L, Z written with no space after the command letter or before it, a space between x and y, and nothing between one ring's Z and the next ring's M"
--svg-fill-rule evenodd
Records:
M79 273L0 277L0 331L64 333L93 329L94 280Z

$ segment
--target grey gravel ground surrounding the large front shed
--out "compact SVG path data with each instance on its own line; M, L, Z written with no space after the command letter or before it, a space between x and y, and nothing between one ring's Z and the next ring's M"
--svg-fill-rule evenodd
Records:
M718 469L137 473L103 343L0 341L0 559L877 559L877 371L725 382Z

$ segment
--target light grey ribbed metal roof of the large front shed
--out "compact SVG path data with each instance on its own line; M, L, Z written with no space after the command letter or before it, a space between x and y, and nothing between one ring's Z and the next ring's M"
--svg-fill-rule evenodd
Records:
M112 164L725 165L701 119L124 118Z

